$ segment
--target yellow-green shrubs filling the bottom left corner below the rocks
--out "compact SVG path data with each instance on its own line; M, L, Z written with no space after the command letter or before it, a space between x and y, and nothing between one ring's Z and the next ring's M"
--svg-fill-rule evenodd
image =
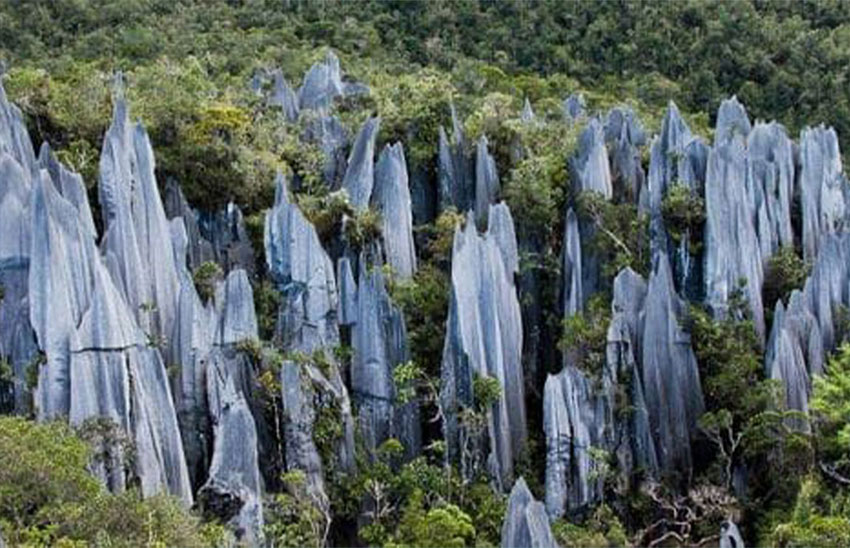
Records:
M103 428L92 424L84 430L93 439ZM207 546L225 540L220 529L201 525L172 497L142 499L133 489L106 492L87 470L92 457L86 442L65 424L0 417L4 538L13 545L127 547Z

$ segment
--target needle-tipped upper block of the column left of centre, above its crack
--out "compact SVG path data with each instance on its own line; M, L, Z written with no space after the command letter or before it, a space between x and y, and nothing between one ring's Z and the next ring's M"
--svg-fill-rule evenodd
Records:
M283 297L276 329L283 347L310 354L339 344L333 264L316 229L290 203L282 176L266 214L265 248L269 275Z

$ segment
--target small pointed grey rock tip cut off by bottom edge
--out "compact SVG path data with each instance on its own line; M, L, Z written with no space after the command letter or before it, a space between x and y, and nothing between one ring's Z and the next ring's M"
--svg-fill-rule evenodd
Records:
M534 500L523 478L511 489L502 523L502 548L558 548L543 505Z

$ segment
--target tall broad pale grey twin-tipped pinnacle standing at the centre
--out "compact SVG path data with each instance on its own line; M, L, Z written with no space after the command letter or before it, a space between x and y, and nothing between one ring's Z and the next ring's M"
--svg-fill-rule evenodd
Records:
M494 478L508 485L526 439L522 322L514 287L519 261L506 205L491 206L488 225L481 235L470 216L455 232L441 402L449 458L464 464L460 453L467 432L458 412L473 404L473 376L499 381L502 393L488 417L488 459Z

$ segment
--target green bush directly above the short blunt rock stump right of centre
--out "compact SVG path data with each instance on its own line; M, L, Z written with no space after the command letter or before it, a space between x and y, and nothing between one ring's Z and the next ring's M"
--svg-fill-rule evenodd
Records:
M562 321L558 349L570 363L594 378L601 378L608 344L611 310L607 296L596 294L587 302L587 310Z

